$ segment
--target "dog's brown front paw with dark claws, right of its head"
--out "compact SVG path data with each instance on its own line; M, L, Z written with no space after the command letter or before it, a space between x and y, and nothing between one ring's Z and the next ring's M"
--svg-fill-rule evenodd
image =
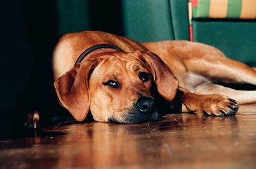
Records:
M220 94L211 94L202 104L202 112L214 116L235 115L238 108L236 100Z

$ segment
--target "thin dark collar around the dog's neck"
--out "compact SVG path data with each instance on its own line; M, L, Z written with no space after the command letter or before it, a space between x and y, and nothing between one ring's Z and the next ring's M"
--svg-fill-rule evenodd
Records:
M116 49L118 51L124 52L124 50L122 50L119 47L116 47L115 45L108 45L108 44L99 44L99 45L95 45L92 46L86 50L84 50L84 52L77 58L75 66L79 63L81 63L81 61L83 61L84 57L86 57L86 55L90 54L93 50L97 50L99 48L113 48Z

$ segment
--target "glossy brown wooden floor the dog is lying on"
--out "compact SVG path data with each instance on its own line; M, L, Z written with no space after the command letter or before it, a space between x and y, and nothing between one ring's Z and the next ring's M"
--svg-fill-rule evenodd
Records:
M0 141L0 168L256 168L256 105L234 117L90 122Z

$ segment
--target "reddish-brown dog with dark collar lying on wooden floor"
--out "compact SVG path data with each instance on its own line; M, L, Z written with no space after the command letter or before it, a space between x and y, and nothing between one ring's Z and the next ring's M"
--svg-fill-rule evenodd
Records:
M99 122L157 121L159 98L180 103L181 112L214 116L235 115L238 103L256 101L256 91L217 84L256 85L256 71L202 43L68 33L56 45L52 68L58 99L76 121L89 111Z

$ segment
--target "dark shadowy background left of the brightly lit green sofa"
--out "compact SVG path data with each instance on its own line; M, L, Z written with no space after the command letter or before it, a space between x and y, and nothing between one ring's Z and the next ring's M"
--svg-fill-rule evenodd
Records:
M52 85L51 54L61 34L100 30L123 35L118 1L14 0L0 8L1 112L15 110L20 96L31 98ZM28 91L32 96L23 96Z

